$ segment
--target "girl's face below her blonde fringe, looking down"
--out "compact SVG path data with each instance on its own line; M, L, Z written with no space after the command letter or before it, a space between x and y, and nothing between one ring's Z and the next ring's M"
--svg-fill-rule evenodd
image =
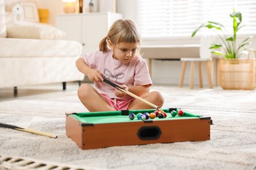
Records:
M129 63L137 53L139 42L119 42L115 46L111 45L113 50L113 58L118 59L122 63Z

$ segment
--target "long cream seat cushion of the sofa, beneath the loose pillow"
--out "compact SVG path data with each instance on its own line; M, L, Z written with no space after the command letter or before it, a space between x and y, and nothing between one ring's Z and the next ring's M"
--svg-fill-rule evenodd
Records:
M0 44L0 59L78 57L82 53L82 45L76 41L0 38Z

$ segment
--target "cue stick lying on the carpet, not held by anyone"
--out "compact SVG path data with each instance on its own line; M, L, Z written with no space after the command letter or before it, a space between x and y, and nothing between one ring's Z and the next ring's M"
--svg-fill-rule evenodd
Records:
M51 138L57 138L56 135L52 135L50 133L46 133L46 132L43 132L43 131L37 131L37 130L34 130L34 129L24 128L24 127L18 127L18 126L14 126L14 125L11 125L11 124L0 123L0 127L6 127L6 128L10 128L10 129L19 130L19 131L26 131L26 132L33 133L33 134L36 134L36 135L42 135L42 136L51 137Z

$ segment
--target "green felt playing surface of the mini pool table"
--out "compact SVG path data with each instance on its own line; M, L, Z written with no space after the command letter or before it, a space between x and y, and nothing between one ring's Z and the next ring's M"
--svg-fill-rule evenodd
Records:
M134 120L130 120L128 114L134 113L135 116L141 112L154 112L155 109L148 109L148 110L118 110L118 111L107 111L107 112L77 112L72 114L72 116L79 120L81 123L88 123L88 124L110 124L110 123L123 123L123 122L137 122L137 121L164 121L164 120L177 120L177 119L194 119L199 118L200 114L194 114L192 112L184 111L184 116L171 116L169 109L161 109L167 113L166 118L154 118L148 120L138 120L135 118ZM126 115L122 115L122 114Z

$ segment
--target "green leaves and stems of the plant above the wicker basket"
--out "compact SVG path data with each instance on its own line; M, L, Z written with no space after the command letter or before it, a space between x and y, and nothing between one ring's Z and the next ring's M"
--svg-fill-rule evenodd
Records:
M240 58L240 54L242 54L240 53L240 50L242 50L245 45L251 43L248 42L251 37L247 37L237 46L236 33L244 26L240 25L242 23L242 14L240 12L235 12L234 10L234 12L230 14L230 17L233 19L233 33L231 36L226 33L226 28L223 24L208 21L207 23L200 25L200 27L192 33L191 37L194 37L194 35L196 35L196 33L203 27L213 29L217 32L222 44L212 44L210 49L213 49L213 51L211 53L219 56L225 56L225 59ZM223 49L223 51L221 51L221 49ZM246 50L246 48L244 48L244 50ZM244 52L244 50L242 52Z

